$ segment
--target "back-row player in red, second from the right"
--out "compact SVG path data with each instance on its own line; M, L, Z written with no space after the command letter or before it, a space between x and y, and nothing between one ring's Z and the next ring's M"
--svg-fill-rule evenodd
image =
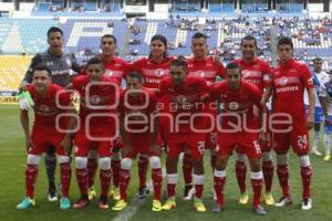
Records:
M241 40L241 59L235 61L241 69L242 78L248 83L255 84L259 91L263 94L262 104L266 103L271 93L271 69L269 64L256 56L257 41L253 36L247 35ZM266 204L274 204L272 197L272 178L273 178L273 160L271 156L272 143L271 133L267 133L267 141L260 144L262 150L262 172L266 183L264 202ZM239 203L247 204L249 194L246 188L247 165L245 152L238 152L238 159L236 160L236 176L240 188L241 197Z

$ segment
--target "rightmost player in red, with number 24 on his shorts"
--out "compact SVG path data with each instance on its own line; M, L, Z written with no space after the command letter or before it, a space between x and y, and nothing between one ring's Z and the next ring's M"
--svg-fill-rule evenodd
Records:
M293 43L289 38L278 42L280 64L273 70L273 149L277 152L277 173L282 188L282 198L276 203L284 207L292 202L288 186L288 150L292 146L301 165L303 185L302 210L310 210L310 181L312 169L309 159L308 130L313 127L314 85L309 67L293 59ZM304 114L303 92L308 91L310 110ZM278 120L278 122L277 122Z

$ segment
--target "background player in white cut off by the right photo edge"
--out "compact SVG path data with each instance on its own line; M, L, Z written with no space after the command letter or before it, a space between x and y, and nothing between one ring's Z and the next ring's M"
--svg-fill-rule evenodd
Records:
M332 134L332 75L330 74L329 82L321 85L320 99L322 103L323 113L325 115L324 127L324 160L331 159L331 134Z

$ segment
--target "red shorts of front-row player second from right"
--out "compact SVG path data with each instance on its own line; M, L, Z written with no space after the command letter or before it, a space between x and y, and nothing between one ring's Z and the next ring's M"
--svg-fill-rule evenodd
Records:
M187 148L194 159L201 159L205 148L204 143L204 140L189 143L168 141L167 156L170 158L176 158L181 151L185 151L185 149Z

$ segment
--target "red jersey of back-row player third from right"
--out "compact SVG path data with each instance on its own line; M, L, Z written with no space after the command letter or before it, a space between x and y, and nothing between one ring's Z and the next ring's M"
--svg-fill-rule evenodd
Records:
M208 84L215 83L217 76L225 78L225 66L215 62L211 56L206 56L203 61L191 57L187 63L189 75L203 77Z

